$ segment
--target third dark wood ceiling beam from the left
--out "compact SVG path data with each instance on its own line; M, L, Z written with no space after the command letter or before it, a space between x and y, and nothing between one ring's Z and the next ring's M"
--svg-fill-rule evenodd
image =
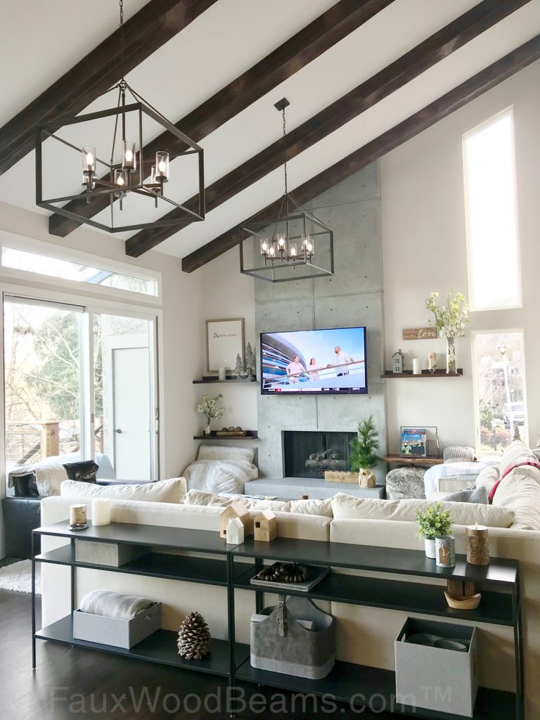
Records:
M285 155L290 160L323 140L331 132L335 132L346 122L374 107L377 102L402 88L529 1L505 0L501 3L500 0L483 0L475 5L428 37L427 40L420 42L413 50L405 53L382 71L311 117L310 120L294 128L288 133L287 138L276 140L256 156L207 187L207 212L215 210L220 204L278 168L283 163ZM197 204L197 198L192 197L183 204L193 210ZM185 217L185 213L172 210L164 216L164 219L178 220L182 217ZM186 219L185 223L180 226L141 230L127 240L126 253L138 257L189 224L191 224L191 220Z

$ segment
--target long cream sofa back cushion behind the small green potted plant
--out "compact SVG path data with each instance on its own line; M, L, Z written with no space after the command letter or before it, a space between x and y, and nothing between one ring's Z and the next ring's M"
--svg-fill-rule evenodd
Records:
M426 510L433 505L429 500L376 500L354 498L339 493L332 498L333 516L336 520L391 520L415 522L416 510ZM476 505L474 503L441 503L443 510L450 510L456 525L486 525L492 528L509 528L516 513L507 507Z

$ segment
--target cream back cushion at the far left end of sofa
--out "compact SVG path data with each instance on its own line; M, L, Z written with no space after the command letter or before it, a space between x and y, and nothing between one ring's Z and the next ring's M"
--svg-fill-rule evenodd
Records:
M182 502L186 493L184 477L170 480L145 482L143 485L93 485L89 482L65 480L60 485L63 498L115 498L117 500L138 500L143 503Z

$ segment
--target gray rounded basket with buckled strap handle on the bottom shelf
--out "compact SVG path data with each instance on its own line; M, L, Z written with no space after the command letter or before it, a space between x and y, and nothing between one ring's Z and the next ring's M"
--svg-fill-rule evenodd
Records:
M263 621L251 621L251 665L298 678L320 680L335 662L333 617L309 598L279 595L278 604L264 608ZM312 621L308 630L297 621Z

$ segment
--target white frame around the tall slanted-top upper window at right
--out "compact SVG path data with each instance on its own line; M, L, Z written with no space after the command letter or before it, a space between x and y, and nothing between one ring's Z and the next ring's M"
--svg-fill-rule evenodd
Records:
M516 206L516 251L517 251L517 274L518 274L518 302L513 305L472 305L474 299L473 289L473 266L472 266L472 232L471 232L471 208L469 202L469 179L467 171L467 156L465 145L468 138L472 135L477 135L478 132L483 130L485 127L493 125L494 122L499 120L501 117L510 117L510 125L512 128L510 144L512 153L512 166L513 166L513 187L514 187L514 201ZM521 237L519 231L519 205L518 205L518 181L517 181L517 166L516 166L516 125L514 122L513 105L505 107L500 112L492 115L487 120L480 122L479 125L475 125L471 130L467 130L462 135L462 163L463 163L463 184L464 184L464 208L465 208L465 237L467 241L467 278L469 287L469 299L471 301L469 310L471 312L490 312L495 310L516 310L523 307L523 282L521 278Z

